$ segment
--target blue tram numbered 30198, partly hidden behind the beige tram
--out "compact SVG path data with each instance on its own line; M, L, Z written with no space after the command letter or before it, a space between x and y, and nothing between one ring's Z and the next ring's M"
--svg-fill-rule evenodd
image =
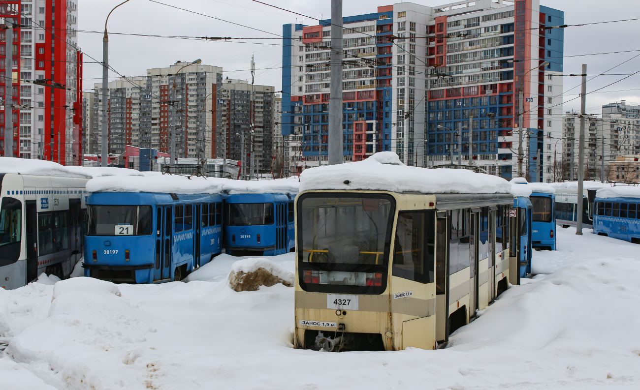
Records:
M225 198L224 247L233 256L274 256L295 250L294 196L230 194Z

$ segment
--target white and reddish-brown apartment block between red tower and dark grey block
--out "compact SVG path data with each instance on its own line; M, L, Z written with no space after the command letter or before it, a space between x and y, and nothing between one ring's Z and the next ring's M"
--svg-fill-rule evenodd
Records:
M110 81L108 90L94 84L90 153L100 153L101 102L109 98L109 153L125 145L169 153L175 131L176 157L216 157L215 129L220 126L222 68L177 61L147 70L146 76Z

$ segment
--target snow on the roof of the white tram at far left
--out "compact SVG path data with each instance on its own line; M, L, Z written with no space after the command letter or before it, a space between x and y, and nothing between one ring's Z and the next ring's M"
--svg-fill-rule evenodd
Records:
M63 166L53 161L17 159L15 157L0 157L0 173L75 177L87 179L100 176L141 176L141 173L136 171L135 169Z

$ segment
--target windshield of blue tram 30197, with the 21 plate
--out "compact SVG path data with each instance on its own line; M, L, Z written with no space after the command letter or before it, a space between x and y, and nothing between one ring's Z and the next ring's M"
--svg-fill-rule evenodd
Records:
M88 205L88 236L150 235L151 206Z

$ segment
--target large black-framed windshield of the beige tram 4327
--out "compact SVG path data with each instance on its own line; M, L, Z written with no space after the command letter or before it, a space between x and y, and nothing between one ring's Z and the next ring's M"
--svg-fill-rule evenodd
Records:
M303 194L296 214L303 290L384 292L394 207L384 194Z

